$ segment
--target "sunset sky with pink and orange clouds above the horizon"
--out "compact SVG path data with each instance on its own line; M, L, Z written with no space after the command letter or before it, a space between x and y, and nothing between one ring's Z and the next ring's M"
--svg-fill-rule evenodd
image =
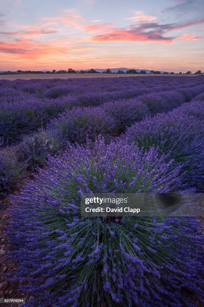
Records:
M0 0L0 70L204 72L204 0Z

